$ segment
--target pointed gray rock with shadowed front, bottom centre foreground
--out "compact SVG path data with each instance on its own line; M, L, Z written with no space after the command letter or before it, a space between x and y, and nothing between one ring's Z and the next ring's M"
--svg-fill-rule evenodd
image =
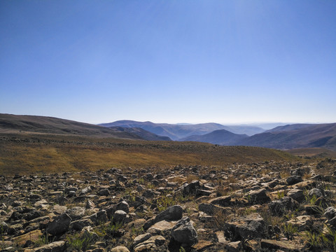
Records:
M172 237L181 246L188 247L197 243L197 232L188 217L182 218L172 229Z

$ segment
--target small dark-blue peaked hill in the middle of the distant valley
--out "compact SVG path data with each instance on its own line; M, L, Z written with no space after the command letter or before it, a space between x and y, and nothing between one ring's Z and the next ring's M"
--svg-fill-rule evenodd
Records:
M235 145L239 140L246 139L248 135L246 134L235 134L229 132L228 130L215 130L211 133L204 135L193 135L181 139L181 141L200 141L210 144L219 144L223 146Z

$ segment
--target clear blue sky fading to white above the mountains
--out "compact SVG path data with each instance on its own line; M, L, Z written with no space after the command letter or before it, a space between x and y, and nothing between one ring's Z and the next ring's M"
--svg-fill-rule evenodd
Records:
M336 123L336 1L1 0L0 113Z

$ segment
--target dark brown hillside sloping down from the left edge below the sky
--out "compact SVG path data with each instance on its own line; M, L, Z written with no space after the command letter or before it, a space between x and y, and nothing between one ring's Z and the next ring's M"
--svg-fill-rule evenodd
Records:
M0 113L0 133L69 134L117 139L162 140L162 137L144 130L106 128L73 120L46 116L16 116ZM139 133L139 134L137 134Z

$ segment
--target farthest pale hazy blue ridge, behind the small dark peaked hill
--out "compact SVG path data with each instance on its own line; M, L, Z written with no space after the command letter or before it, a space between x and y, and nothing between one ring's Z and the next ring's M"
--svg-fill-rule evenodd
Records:
M260 127L248 125L225 126L218 123L200 123L195 125L175 125L168 123L137 122L133 120L119 120L114 123L102 123L105 127L140 127L159 136L169 137L173 140L180 140L192 135L208 134L215 130L228 130L235 134L253 135L264 132Z

